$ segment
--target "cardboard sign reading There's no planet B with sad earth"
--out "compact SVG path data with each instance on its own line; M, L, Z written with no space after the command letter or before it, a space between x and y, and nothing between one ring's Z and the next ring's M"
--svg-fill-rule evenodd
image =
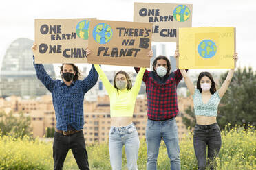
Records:
M89 25L87 61L92 64L149 67L151 23L94 20Z

